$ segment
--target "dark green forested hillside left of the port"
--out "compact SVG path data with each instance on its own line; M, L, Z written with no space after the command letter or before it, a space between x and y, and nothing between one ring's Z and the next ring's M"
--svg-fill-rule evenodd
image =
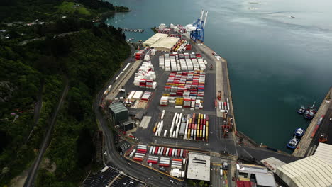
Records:
M32 164L66 82L70 89L44 155L56 169L40 169L35 186L77 186L87 166L94 164L92 136L97 125L92 102L128 57L130 47L121 30L76 16L55 18L22 32L0 40L0 186L8 185ZM31 37L44 38L20 45ZM40 118L35 123L40 101Z

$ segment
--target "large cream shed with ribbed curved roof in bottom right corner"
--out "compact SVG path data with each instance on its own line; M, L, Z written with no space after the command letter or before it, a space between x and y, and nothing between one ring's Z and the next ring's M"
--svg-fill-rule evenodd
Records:
M314 155L277 167L290 187L332 185L332 145L319 143Z

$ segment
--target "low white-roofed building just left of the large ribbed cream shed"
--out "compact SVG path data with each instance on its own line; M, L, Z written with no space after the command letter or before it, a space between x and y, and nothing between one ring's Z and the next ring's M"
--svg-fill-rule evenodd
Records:
M268 171L266 167L253 164L236 164L238 181L248 181L256 183L257 186L277 186L273 172Z

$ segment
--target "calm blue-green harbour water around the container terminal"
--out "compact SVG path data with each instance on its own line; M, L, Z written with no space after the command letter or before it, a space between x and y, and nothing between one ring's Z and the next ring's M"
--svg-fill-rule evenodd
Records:
M205 43L228 60L238 130L285 150L295 128L309 122L302 104L321 104L332 86L332 1L116 0L129 13L106 20L146 40L160 23L186 25L209 11ZM295 18L292 18L294 16Z

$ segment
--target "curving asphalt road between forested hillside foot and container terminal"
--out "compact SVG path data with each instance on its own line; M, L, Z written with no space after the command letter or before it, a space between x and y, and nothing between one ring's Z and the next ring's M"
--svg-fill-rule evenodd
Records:
M134 52L134 49L132 47L132 54ZM131 55L132 57L133 55ZM128 62L131 61L131 57L129 57L127 60L125 60L124 65L126 65ZM121 72L121 69L118 70L118 73ZM117 73L117 74L118 74ZM117 75L115 74L115 75ZM109 84L114 81L114 76L111 80L109 80ZM108 85L109 85L108 84ZM114 145L114 135L109 130L107 126L106 118L102 115L101 111L99 110L99 103L101 103L101 98L103 96L104 91L106 90L107 86L102 89L99 94L96 97L96 100L94 101L94 113L96 114L96 119L99 121L99 124L101 125L101 128L104 132L105 137L105 144L106 144L106 159L108 164L113 164L114 166L117 166L120 168L123 172L126 174L129 174L131 176L135 176L138 179L145 181L151 186L174 186L174 183L171 183L170 177L161 175L151 169L146 168L145 166L141 166L140 164L136 164L135 162L132 162L131 165L128 163L130 161L126 160L124 157L122 157L116 150L116 147ZM177 182L179 183L179 182Z

